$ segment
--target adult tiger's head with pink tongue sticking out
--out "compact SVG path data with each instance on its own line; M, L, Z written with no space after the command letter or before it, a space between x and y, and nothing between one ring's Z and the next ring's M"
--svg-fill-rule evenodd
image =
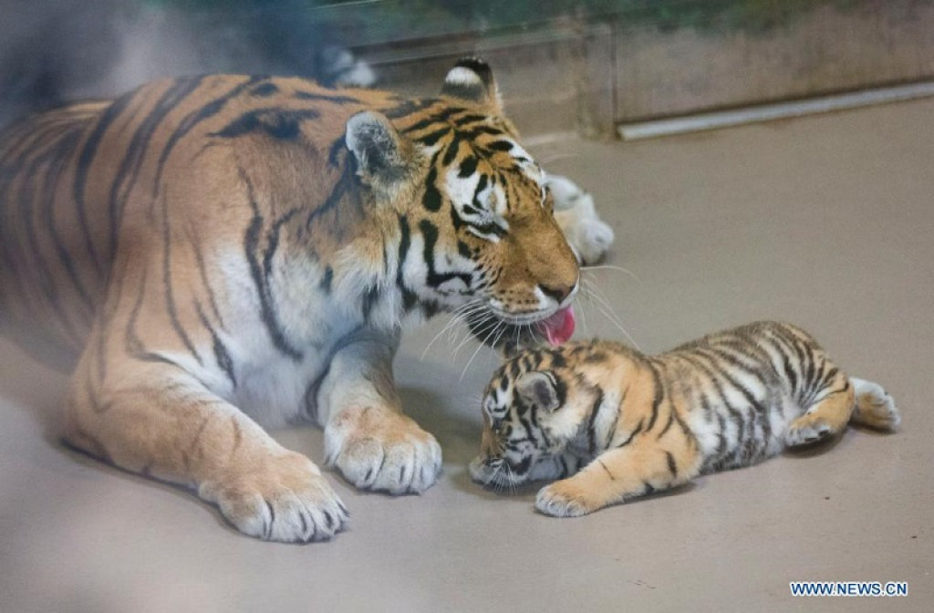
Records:
M346 140L398 236L386 257L408 310L460 308L493 346L570 337L577 261L487 64L461 60L437 98L354 115Z

